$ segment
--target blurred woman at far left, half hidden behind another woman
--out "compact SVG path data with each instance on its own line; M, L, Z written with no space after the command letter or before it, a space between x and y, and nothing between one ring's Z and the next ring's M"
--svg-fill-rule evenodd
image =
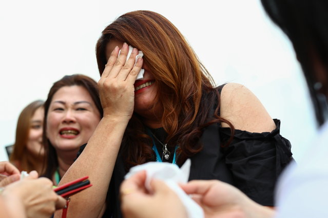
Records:
M42 144L43 103L42 100L31 102L18 117L16 139L9 159L20 171L41 172L43 169L45 154Z

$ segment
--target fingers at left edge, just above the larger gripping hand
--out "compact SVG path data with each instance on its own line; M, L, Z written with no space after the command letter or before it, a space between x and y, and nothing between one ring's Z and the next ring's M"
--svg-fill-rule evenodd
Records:
M0 187L4 187L20 179L21 173L8 161L0 162Z

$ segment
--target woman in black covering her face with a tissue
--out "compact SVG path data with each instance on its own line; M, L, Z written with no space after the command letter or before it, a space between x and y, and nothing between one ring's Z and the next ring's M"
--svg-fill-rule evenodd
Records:
M126 61L129 45L137 49ZM134 64L138 50L144 57ZM181 166L188 158L189 180L222 180L273 206L277 176L292 159L280 121L243 85L216 87L169 20L151 11L120 16L102 32L97 61L104 117L63 178L88 175L93 187L71 198L69 214L120 217L119 187L129 168Z

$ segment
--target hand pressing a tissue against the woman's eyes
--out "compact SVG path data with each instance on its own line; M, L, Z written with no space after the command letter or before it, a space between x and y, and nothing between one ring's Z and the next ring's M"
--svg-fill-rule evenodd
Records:
M118 57L119 47L115 47L98 82L104 117L115 116L130 119L132 116L134 107L133 84L142 67L143 60L138 58L134 66L138 50L133 49L129 59L125 62L128 50L128 45L124 43Z

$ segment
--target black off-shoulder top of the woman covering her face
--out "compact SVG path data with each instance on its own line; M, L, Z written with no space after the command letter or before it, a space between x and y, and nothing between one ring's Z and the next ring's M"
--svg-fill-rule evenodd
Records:
M219 91L222 87L219 87ZM221 180L239 188L261 205L274 206L274 189L278 176L293 161L291 144L280 135L280 120L274 119L274 122L276 128L271 133L249 133L236 129L233 140L226 147L223 145L230 139L230 128L221 127L220 123L207 126L201 137L202 150L190 158L189 181ZM85 146L81 146L78 156ZM119 154L109 184L107 209L103 217L122 217L119 188L126 173Z

